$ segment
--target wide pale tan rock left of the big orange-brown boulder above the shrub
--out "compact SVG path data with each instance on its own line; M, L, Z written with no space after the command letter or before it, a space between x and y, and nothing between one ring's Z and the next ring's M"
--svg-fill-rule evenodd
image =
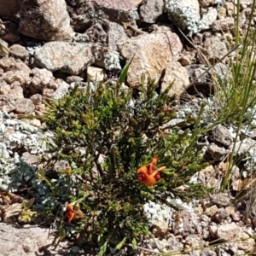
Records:
M36 49L35 61L40 67L51 72L60 70L63 73L78 75L94 62L90 44L69 44L49 42Z

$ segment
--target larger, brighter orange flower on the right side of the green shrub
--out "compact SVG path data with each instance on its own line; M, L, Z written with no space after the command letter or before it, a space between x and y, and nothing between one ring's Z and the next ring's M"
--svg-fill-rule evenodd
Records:
M161 166L157 169L155 166L157 161L158 156L156 155L148 166L141 166L137 170L138 180L143 182L146 186L154 186L154 184L161 178L159 172L166 169L166 166Z

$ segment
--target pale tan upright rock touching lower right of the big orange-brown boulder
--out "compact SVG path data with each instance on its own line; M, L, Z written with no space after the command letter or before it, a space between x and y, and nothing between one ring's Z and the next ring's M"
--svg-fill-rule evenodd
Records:
M168 95L176 96L176 98L182 96L190 84L189 73L186 68L182 67L177 61L167 63L166 74L162 81L160 91L165 91L170 84L172 84L172 89L169 90Z

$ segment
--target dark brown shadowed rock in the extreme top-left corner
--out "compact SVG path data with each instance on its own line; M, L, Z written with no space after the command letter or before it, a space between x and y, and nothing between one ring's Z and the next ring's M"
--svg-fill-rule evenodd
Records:
M21 0L0 0L0 17L5 20L18 20Z

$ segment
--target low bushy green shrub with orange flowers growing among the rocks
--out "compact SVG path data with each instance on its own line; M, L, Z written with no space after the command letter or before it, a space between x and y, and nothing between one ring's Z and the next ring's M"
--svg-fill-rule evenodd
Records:
M174 99L168 96L171 86L160 95L156 87L149 81L133 96L119 83L97 84L94 91L76 86L70 95L52 102L47 113L46 124L55 132L52 160L71 163L60 175L72 183L67 187L70 203L79 201L79 218L73 219L76 210L68 205L68 221L86 230L88 241L97 242L101 254L108 243L136 246L139 236L148 234L143 215L148 200L166 202L170 192L186 199L203 195L200 185L189 184L204 166L201 148L196 147L200 116L168 125L176 117ZM195 127L192 134L188 125ZM137 169L155 155L166 170L148 187L137 180ZM186 193L176 189L186 183Z

